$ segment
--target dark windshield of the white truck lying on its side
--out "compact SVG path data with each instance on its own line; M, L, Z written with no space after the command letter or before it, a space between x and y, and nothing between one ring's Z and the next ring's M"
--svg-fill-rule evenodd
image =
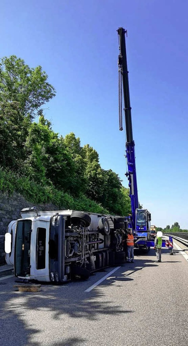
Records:
M15 275L30 276L31 220L17 222L15 237Z

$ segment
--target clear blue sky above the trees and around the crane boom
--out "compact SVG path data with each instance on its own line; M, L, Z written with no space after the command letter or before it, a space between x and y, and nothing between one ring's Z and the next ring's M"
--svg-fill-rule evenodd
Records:
M41 65L56 89L45 116L63 136L125 171L118 128L118 37L126 39L138 197L152 224L188 228L188 39L186 0L1 1L0 57Z

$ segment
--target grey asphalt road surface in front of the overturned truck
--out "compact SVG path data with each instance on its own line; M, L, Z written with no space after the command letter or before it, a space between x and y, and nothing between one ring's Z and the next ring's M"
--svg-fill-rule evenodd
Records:
M135 256L90 292L89 280L18 292L0 281L0 340L6 346L187 346L188 261L162 249Z

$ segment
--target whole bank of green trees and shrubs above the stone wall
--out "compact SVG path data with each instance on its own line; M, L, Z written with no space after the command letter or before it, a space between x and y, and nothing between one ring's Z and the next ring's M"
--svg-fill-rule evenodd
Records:
M0 190L59 208L129 215L129 189L104 170L97 151L71 132L55 133L43 105L55 97L41 66L0 60Z

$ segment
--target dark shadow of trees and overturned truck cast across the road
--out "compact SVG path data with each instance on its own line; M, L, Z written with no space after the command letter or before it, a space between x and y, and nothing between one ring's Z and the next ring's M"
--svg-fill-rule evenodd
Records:
M169 253L168 249L162 250L162 254L167 253ZM140 258L141 256L142 258ZM120 282L133 281L130 275L135 272L151 266L155 270L156 267L162 265L162 263L154 263L156 258L154 250L145 256L143 259L143 254L138 254L135 257L135 263L125 263L98 288L112 285L117 281L119 282L118 286L121 286ZM108 268L107 271L109 272L110 269ZM104 316L105 319L107 315L116 318L120 314L134 313L132 310L123 310L121 306L107 301L105 294L100 289L94 289L88 293L84 292L90 285L99 280L99 275L102 277L102 273L91 276L87 285L86 282L72 282L61 286L43 284L41 291L37 293L14 291L15 279L12 281L10 279L5 280L0 286L2 344L42 346L42 342L38 341L38 337L40 336L41 339L42 333L46 333L48 328L50 330L52 328L53 333L55 333L56 328L61 328L61 342L54 343L52 333L48 339L48 345L79 346L83 342L87 342L87 340L75 336L75 330L77 328L79 330L80 323L87 325L90 322L95 323L101 319L101 316ZM67 338L68 336L71 337Z

